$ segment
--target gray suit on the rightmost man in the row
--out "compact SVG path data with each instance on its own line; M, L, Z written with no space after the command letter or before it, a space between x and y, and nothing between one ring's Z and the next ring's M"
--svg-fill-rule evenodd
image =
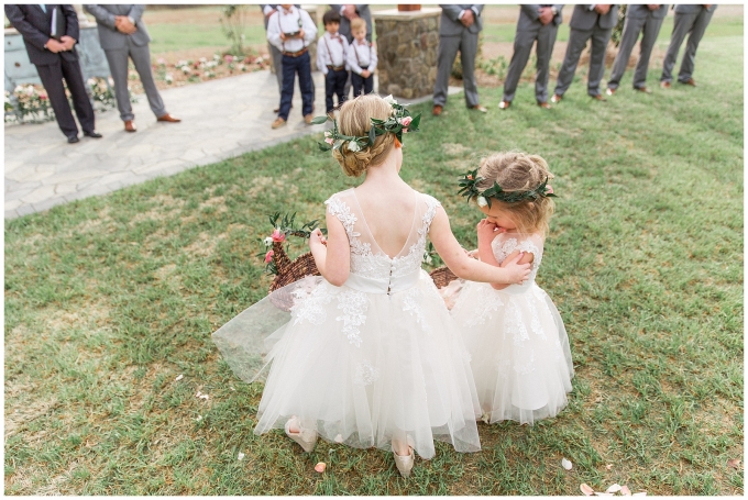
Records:
M683 62L681 62L678 81L685 82L691 79L698 42L704 36L704 31L706 31L706 26L712 21L712 14L716 8L717 5L712 5L708 9L704 8L704 5L675 5L673 33L670 35L670 46L668 46L668 54L662 63L660 81L672 81L672 70L675 66L675 59L678 59L678 52L681 49L683 38L689 33L691 34L689 35L689 42L685 44L685 54L683 54Z

